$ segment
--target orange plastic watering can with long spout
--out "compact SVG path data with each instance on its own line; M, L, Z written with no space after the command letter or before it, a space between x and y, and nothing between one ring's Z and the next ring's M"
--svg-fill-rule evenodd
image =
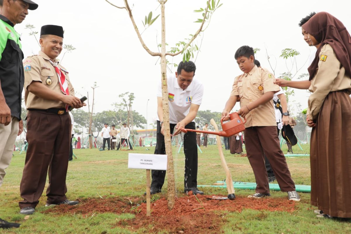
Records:
M223 120L220 120L220 123L222 125L223 131L220 132L213 132L213 131L202 131L202 130L195 130L195 129L185 129L181 128L180 130L184 133L186 132L199 132L199 133L207 133L207 134L214 134L214 135L219 135L219 136L225 136L229 137L232 135L235 135L239 132L243 132L245 130L245 123L246 119L244 117L244 121L241 120L239 117L239 114L237 112L231 113L229 115L230 120L227 122L223 122Z

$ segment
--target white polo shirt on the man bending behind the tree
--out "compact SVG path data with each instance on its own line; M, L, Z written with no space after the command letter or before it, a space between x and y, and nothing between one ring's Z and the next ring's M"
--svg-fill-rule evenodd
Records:
M189 113L191 103L201 105L204 86L198 79L193 79L183 90L179 87L175 74L167 76L167 86L170 123L177 124ZM161 81L158 84L157 96L162 97ZM158 116L157 120L159 120Z

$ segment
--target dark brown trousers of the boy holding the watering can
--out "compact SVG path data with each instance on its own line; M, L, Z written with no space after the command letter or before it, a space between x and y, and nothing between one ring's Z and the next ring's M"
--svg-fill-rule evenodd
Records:
M269 193L268 175L265 157L269 159L274 175L282 192L295 191L285 156L280 149L276 126L260 126L245 128L245 145L247 158L255 175L256 193Z

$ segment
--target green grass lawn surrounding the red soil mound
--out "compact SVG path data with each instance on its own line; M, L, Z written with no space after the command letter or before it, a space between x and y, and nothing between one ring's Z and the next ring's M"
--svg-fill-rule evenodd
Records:
M309 153L309 145L293 147L294 153ZM149 151L146 148L150 149ZM198 162L198 185L211 185L225 179L221 167L217 146L201 147ZM183 149L182 149L183 150ZM178 148L173 147L177 196L183 196L184 153L177 154ZM154 147L137 147L133 153L153 153ZM286 153L286 145L283 145ZM78 159L69 162L67 173L67 198L74 199L105 199L119 197L143 198L145 191L145 170L128 169L128 151L104 151L97 149L77 149L74 154ZM231 155L224 151L226 161L234 181L255 182L253 172L246 157ZM45 190L36 212L25 220L19 214L19 186L25 162L25 153L16 152L11 165L6 170L4 184L0 188L0 218L7 221L20 222L18 229L1 230L0 233L149 233L151 229L132 230L119 226L120 220L134 218L132 213L114 214L97 213L91 216L79 214L42 213L45 207ZM292 178L296 184L310 185L309 157L287 157ZM167 179L167 178L166 178ZM46 188L45 188L46 189ZM203 188L205 194L226 194L226 189ZM167 181L161 195L166 196ZM237 196L253 194L253 190L236 189ZM271 192L271 198L287 198L283 192ZM268 212L265 210L244 209L242 212L226 212L222 216L223 225L218 233L351 233L351 222L318 219L310 205L310 194L300 193L301 202L293 212ZM168 233L168 232L164 232ZM203 233L206 233L204 230Z

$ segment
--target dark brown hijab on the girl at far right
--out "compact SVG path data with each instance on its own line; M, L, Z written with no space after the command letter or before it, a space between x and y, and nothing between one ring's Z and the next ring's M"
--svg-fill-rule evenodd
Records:
M302 28L320 42L316 57L308 68L309 80L312 80L316 73L319 52L324 44L329 44L333 48L336 58L351 76L351 37L340 20L327 12L319 12L302 25Z

